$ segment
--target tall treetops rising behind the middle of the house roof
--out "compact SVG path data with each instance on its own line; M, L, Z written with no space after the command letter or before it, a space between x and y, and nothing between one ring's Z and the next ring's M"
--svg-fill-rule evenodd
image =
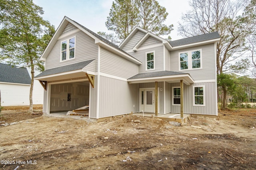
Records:
M115 0L106 27L114 31L121 40L125 39L136 25L156 35L168 35L173 30L173 25L163 24L167 16L166 8L160 6L156 0ZM106 33L102 35L111 37Z

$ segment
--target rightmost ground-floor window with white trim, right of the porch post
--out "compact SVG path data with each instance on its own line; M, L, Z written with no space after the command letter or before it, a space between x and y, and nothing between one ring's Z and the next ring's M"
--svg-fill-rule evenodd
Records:
M193 106L205 106L205 86L193 86Z

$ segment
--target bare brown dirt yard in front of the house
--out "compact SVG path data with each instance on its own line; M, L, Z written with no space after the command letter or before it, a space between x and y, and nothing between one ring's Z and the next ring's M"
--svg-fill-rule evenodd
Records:
M0 124L18 122L0 126L3 170L256 168L256 109L222 111L226 115L216 118L193 115L183 126L135 115L95 123L46 117L41 106L37 115L27 109L5 107L0 113Z

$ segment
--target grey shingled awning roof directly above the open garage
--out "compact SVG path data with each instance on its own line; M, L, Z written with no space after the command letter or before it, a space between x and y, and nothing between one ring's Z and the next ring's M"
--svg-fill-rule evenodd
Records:
M88 61L82 61L80 63L75 63L75 64L69 64L66 66L60 66L52 69L45 70L44 72L41 72L35 77L42 77L42 76L48 76L51 74L58 74L62 72L68 72L68 71L74 71L74 70L79 70L90 64L93 60L88 60Z

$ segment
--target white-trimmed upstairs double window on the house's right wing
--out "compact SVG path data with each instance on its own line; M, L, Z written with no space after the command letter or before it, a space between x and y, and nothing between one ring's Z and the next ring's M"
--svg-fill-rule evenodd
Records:
M179 53L179 70L202 68L202 50Z

